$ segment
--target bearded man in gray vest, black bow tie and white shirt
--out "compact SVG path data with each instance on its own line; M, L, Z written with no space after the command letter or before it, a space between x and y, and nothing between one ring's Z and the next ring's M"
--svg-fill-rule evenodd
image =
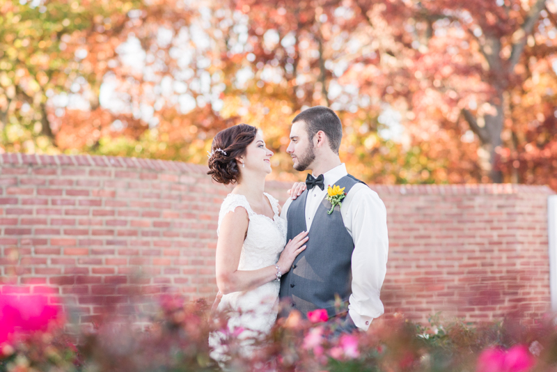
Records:
M283 275L280 297L304 317L308 311L326 309L329 318L342 321L340 332L352 332L368 330L384 311L379 292L389 240L383 202L340 162L342 137L340 119L327 107L311 107L292 121L287 152L294 169L311 170L313 176L308 174L300 196L286 201L281 217L288 222L287 240L301 231L309 231L309 240ZM344 187L346 193L330 215L329 185ZM337 312L335 297L348 304L347 312Z

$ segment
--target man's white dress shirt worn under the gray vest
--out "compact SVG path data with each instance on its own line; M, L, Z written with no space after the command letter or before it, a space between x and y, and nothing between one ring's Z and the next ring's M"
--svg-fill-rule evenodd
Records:
M313 187L306 199L306 227L311 227L321 201L327 196L327 186L333 186L348 173L345 164L323 174L324 189ZM292 199L283 206L281 217L287 219ZM386 274L389 238L387 235L386 209L377 192L362 183L350 189L340 207L346 230L354 241L352 252L352 295L348 313L354 324L368 330L373 318L384 312L379 293Z

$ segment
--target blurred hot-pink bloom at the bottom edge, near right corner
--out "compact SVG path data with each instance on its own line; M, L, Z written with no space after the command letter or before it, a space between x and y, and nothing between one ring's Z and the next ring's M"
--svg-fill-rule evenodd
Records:
M505 351L501 348L483 350L478 358L477 372L526 372L535 364L526 346L517 345Z

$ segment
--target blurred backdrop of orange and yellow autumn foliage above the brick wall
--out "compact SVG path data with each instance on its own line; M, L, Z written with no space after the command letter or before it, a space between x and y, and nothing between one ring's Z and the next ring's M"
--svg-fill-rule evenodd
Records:
M274 177L295 179L289 123L324 104L345 127L341 157L370 182L547 183L557 166L549 1L34 3L0 8L13 38L0 84L34 79L43 104L0 98L4 150L203 163L217 131L245 122L264 130ZM47 59L29 47L46 39ZM38 60L56 61L57 85Z

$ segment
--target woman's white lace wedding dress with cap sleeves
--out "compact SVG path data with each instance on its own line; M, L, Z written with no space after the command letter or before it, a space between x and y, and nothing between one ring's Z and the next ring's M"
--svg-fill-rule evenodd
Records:
M278 215L278 201L267 193L265 196L273 208L273 219L253 212L243 195L228 194L221 205L217 235L226 213L233 212L237 207L245 208L248 212L249 226L238 270L258 270L275 265L286 245L286 221ZM229 359L227 339L231 338L240 341L239 351L242 356L250 357L253 354L256 350L252 345L254 339L269 334L276 321L279 288L278 281L270 281L253 290L222 296L217 311L230 311L230 318L227 330L210 334L213 359L218 362Z

